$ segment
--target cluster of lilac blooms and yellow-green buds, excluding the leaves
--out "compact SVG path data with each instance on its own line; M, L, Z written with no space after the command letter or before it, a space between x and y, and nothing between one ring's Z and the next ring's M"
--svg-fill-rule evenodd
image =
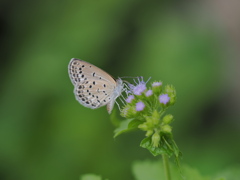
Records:
M128 84L129 91L126 105L121 111L125 118L138 120L139 129L146 131L146 136L151 138L151 146L161 146L161 137L172 133L169 125L173 116L164 116L166 109L176 101L176 91L172 85L163 87L161 81L155 81L147 88L143 78L138 82Z

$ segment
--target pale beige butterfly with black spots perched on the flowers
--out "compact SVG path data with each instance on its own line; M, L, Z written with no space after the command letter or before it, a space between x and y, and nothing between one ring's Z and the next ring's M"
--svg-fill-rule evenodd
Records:
M116 99L124 90L121 78L115 80L97 66L76 58L71 59L68 73L80 104L91 109L107 105L108 113L112 112Z

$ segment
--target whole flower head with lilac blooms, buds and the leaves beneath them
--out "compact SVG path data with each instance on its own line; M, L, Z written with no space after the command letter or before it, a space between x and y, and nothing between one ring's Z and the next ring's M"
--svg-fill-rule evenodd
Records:
M141 147L148 149L154 156L167 152L179 161L181 154L174 142L170 125L173 115L163 116L175 103L175 88L172 85L163 86L161 81L155 81L147 87L148 81L144 81L142 77L133 81L132 84L127 81L123 84L126 96L122 98L126 100L122 101L123 108L120 112L127 119L119 123L114 137L137 128L145 131L146 138L141 141Z

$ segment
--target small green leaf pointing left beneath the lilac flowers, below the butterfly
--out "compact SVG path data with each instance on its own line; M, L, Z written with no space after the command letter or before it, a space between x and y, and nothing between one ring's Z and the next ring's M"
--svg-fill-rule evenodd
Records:
M136 119L127 119L120 123L120 126L114 131L114 138L122 133L129 132L138 128L142 122Z

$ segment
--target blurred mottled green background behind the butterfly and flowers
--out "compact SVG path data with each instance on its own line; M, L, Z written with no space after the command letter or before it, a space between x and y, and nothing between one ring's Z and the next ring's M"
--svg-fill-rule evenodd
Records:
M0 1L0 179L130 180L134 160L154 159L143 132L113 139L106 109L75 100L73 57L173 84L182 162L204 175L239 164L240 16L227 2Z

